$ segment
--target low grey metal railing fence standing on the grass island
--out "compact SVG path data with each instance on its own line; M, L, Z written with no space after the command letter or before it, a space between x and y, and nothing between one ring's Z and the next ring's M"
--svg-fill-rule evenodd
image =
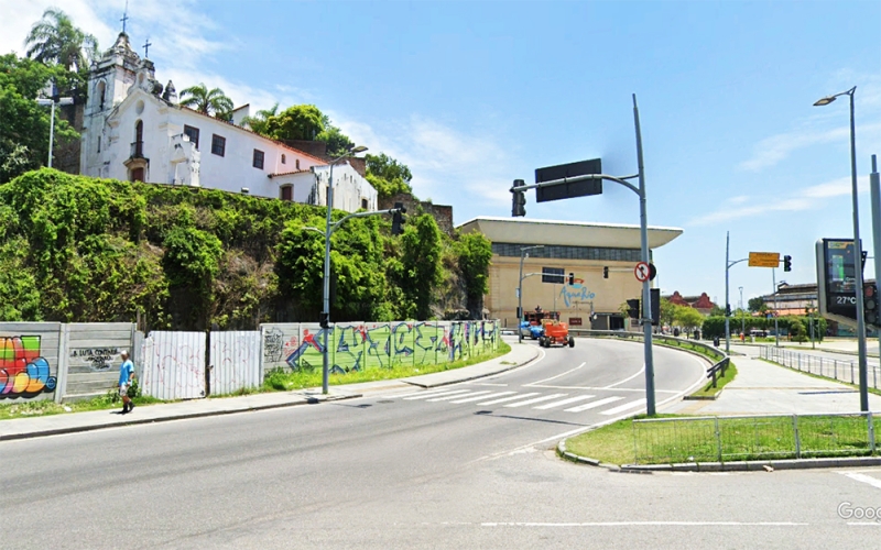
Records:
M873 454L881 421L851 415L633 420L633 463L731 462Z

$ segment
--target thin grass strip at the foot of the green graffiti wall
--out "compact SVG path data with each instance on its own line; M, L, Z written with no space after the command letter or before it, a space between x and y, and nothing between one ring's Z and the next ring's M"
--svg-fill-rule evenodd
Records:
M407 378L442 371L452 371L464 366L482 363L491 359L501 356L511 351L511 346L504 341L499 341L499 349L493 353L475 355L466 360L454 361L452 363L438 363L435 365L395 365L391 369L368 369L365 371L352 371L348 373L331 373L328 376L328 385L341 386L346 384L358 384L362 382L377 382L382 380ZM308 372L292 372L285 369L276 369L267 374L263 380L262 391L264 392L290 392L292 389L304 389L307 387L319 387L322 385L322 370L316 369Z

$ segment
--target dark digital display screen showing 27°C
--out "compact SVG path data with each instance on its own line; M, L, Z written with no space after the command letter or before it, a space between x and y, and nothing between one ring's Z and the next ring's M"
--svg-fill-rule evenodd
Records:
M823 264L826 312L857 318L857 272L853 240L824 239Z

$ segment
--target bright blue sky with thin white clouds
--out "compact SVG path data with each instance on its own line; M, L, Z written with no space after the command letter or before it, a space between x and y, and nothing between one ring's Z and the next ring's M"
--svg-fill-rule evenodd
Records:
M101 50L126 0L0 0L0 52L24 52L47 7ZM859 217L873 256L869 173L881 155L881 2L131 0L156 78L221 88L251 112L312 103L359 145L410 166L421 199L461 224L511 216L513 179L601 158L635 174L639 102L650 226L663 294L725 304L730 261L792 256L776 280L816 283L815 243L852 238L848 97L855 92ZM139 47L143 54L143 47ZM536 204L526 218L639 224L637 196ZM881 244L881 243L879 243ZM866 276L873 277L872 262ZM773 290L770 268L732 266L732 308Z

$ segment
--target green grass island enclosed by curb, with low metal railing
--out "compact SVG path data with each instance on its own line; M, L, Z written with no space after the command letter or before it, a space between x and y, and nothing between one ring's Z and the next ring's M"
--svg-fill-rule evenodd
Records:
M575 454L613 464L871 454L868 422L864 417L857 415L797 417L800 453L796 453L792 416L717 419L659 415L655 418L668 418L671 421L619 420L567 440L566 448ZM875 441L881 443L881 419L873 418L873 425Z

